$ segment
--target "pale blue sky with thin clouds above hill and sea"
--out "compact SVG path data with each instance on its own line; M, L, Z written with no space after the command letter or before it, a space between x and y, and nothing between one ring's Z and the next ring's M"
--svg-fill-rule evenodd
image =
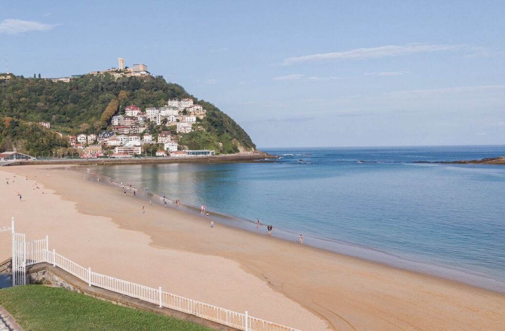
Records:
M503 13L503 1L3 1L0 54L28 77L144 63L259 147L505 144Z

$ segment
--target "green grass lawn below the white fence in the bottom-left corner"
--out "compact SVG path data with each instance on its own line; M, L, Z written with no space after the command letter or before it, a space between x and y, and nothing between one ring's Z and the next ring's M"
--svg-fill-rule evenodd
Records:
M85 294L40 285L0 289L0 305L16 318L25 331L212 330L173 317L122 307Z

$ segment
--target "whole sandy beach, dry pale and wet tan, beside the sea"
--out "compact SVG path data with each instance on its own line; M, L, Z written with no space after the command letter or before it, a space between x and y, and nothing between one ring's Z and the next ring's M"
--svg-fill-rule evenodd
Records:
M505 325L505 294L263 232L211 228L204 215L150 206L95 176L47 168L0 169L0 227L14 216L27 240L49 235L49 249L94 271L306 331ZM10 233L0 233L0 260L10 255Z

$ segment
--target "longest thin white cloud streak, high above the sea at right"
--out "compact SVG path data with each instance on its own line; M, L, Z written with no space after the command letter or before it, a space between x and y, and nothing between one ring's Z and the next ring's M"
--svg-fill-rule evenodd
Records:
M295 64L313 63L313 62L375 59L375 58L400 56L421 52L461 50L461 49L470 50L471 48L472 47L470 47L469 45L450 45L450 44L429 45L421 43L411 43L403 46L387 45L371 48L357 48L342 52L312 54L302 57L287 58L282 62L282 64L284 66L290 66Z

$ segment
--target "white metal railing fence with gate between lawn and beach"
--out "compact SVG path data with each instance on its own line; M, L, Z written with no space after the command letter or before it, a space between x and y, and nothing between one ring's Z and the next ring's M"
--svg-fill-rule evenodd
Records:
M153 289L143 285L120 280L105 274L91 271L56 253L49 251L48 238L25 242L24 234L13 234L13 286L25 284L25 267L39 262L48 262L73 274L75 277L96 286L151 302L160 307L167 307L188 314L211 320L220 324L232 326L245 331L299 331L292 327L269 322L247 314L238 313L224 308L219 308L207 303L191 300L175 294L162 291L161 287ZM15 264L16 261L16 264ZM17 266L17 269L14 266ZM14 277L16 275L16 277ZM17 280L16 283L14 280Z

